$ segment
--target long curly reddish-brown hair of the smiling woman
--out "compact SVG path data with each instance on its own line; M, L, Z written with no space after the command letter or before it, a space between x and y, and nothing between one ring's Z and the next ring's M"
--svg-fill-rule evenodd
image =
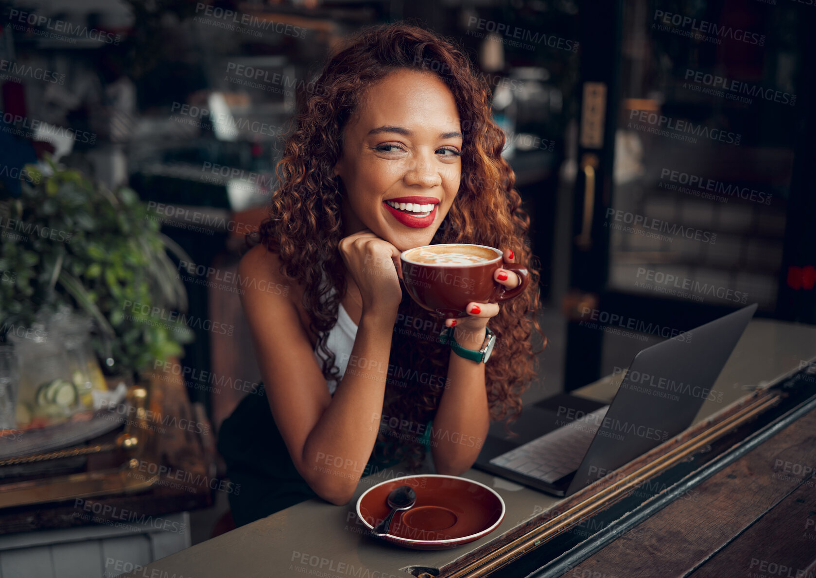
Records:
M517 263L526 264L530 285L517 298L504 302L490 319L497 344L486 364L490 419L521 412L521 392L535 375L530 338L532 328L547 338L536 319L539 310L539 271L532 267L526 235L530 217L521 209L514 190L515 174L501 152L503 131L490 117L490 89L471 68L455 44L414 25L397 22L361 29L331 55L313 90L301 92L302 106L294 129L286 137L276 167L279 186L273 193L268 218L255 234L269 251L277 252L281 273L304 286L309 328L319 336L326 361L326 379L339 377L335 354L326 347L328 332L337 323L338 307L346 291L338 244L343 237L340 203L344 189L332 172L343 146L343 129L367 87L388 73L410 69L436 74L455 97L463 132L462 179L450 211L432 244L473 243L512 249ZM250 243L253 241L250 239ZM325 278L324 278L325 273ZM331 292L331 289L336 289ZM415 468L425 457L419 440L399 429L421 430L436 413L444 391L449 346L437 339L444 324L432 320L403 289L394 326L384 416L397 417L397 427L382 426L372 459L398 457ZM406 426L408 424L408 426ZM432 433L432 436L436 434ZM405 439L409 439L406 443Z

